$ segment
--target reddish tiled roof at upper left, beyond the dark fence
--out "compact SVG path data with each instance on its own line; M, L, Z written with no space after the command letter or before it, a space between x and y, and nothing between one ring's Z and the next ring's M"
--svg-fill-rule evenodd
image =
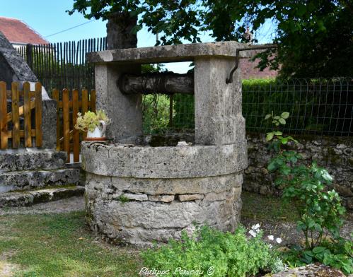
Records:
M33 45L49 43L36 33L35 30L16 18L0 16L0 32L3 33L11 43L31 43Z

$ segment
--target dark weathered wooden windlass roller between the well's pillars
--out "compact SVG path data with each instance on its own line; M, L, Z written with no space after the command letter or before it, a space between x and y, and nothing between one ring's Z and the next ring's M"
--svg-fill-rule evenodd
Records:
M124 74L118 81L122 93L194 93L194 76L192 73L178 74L173 72L146 73L141 75Z

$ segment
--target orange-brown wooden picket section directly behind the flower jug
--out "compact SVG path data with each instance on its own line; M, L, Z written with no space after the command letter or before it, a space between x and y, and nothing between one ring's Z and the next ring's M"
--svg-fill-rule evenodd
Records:
M52 90L52 98L57 101L57 150L67 153L67 163L70 163L70 154L74 154L74 163L80 159L80 142L86 134L74 126L77 121L77 113L85 114L88 110L96 112L96 90L88 91Z

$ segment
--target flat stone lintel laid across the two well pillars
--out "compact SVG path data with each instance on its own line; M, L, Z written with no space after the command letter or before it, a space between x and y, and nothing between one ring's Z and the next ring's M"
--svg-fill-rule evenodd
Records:
M236 49L246 45L228 42L190 43L187 45L166 45L158 47L141 47L129 49L113 49L87 54L92 63L137 63L154 64L178 61L194 61L196 57L235 58ZM240 57L251 57L251 51L240 52Z

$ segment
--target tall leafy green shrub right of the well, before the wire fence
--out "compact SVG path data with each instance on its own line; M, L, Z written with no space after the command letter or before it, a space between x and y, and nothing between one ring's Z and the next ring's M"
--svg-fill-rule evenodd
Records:
M265 119L271 119L275 126L286 124L288 112L280 116L267 114ZM277 172L275 184L284 187L284 199L295 201L301 218L297 229L303 231L306 237L306 248L313 248L323 240L324 233L333 237L339 236L343 224L342 215L345 208L341 205L340 196L328 185L332 177L328 171L318 167L316 162L306 166L301 163L301 155L296 151L282 149L289 141L297 141L291 136L283 136L281 131L267 133L267 141L272 141L271 147L277 155L270 160L267 170ZM309 241L309 237L311 240Z

